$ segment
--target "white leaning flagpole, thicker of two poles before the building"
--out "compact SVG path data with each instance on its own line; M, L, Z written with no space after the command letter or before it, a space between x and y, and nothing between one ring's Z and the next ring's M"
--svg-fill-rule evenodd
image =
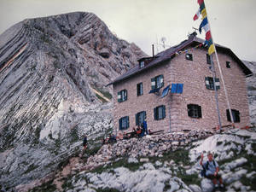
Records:
M207 14L207 18L208 17L208 14ZM208 20L208 19L207 19ZM208 20L208 25L209 25L209 29L210 29L210 32L211 32L211 37L212 37L212 30L211 30L211 25L210 25L210 22ZM224 82L224 77L223 77L223 73L222 73L222 69L219 65L219 61L218 61L218 53L217 53L217 49L216 49L216 46L214 44L214 41L213 41L213 38L212 38L212 44L213 44L213 47L214 47L214 51L215 51L215 56L216 56L216 60L217 60L217 63L218 63L218 70L219 70L219 73L220 73L220 78L223 82L223 87L224 87L224 94L225 94L225 97L226 97L226 102L227 102L227 105L228 105L228 108L229 108L229 111L230 111L230 119L231 119L231 122L232 122L232 126L235 127L235 124L234 124L234 119L233 119L233 115L232 115L232 112L231 112L231 108L230 108L230 101L229 101L229 96L228 96L228 93L227 93L227 90L226 90L226 86L225 86L225 82ZM215 85L214 85L215 86ZM214 88L215 89L215 88ZM220 127L221 129L221 127Z

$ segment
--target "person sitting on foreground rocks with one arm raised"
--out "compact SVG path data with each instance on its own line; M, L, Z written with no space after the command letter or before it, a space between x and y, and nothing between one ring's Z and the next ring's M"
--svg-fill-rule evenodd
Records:
M212 180L212 183L214 184L214 189L218 188L217 182L219 182L220 188L224 189L224 184L223 184L222 178L218 174L219 167L218 167L217 161L213 160L212 153L208 153L207 157L208 157L207 162L203 163L202 161L204 159L204 154L201 154L200 165L203 166L203 168L206 171L205 177Z

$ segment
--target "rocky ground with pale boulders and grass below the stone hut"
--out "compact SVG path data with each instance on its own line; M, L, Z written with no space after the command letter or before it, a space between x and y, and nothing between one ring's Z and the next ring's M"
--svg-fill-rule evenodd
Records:
M200 154L212 151L226 191L256 191L256 132L233 130L212 135L191 131L105 144L96 154L73 158L44 184L26 191L212 191L200 176ZM38 183L37 183L38 184Z

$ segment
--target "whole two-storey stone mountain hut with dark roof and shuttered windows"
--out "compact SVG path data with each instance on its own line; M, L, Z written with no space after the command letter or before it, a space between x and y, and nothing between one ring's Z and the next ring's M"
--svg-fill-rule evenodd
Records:
M131 131L145 117L151 131L212 130L218 126L211 60L203 43L192 33L181 44L138 60L137 67L110 83L116 131ZM231 49L218 44L216 49L235 125L249 125L246 76L252 72ZM231 125L215 56L212 61L221 122Z

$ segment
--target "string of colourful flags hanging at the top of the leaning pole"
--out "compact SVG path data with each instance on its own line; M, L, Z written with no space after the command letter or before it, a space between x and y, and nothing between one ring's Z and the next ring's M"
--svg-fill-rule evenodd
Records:
M204 3L204 0L197 0L197 3L199 4L199 9L196 12L195 16L193 17L193 20L197 20L199 16L202 16L202 21L199 26L199 32L201 33L201 30L203 29L206 32L206 42L208 47L208 54L212 55L214 53L214 45L212 44L212 34L210 30L210 25L207 19L207 9Z

